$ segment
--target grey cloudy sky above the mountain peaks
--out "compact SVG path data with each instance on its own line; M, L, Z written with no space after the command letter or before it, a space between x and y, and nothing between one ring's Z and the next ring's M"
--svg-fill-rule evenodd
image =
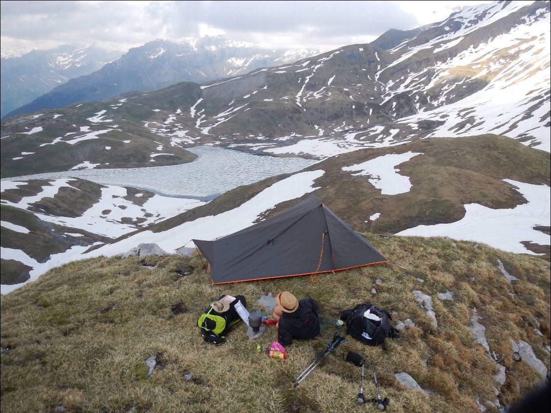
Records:
M269 48L331 50L408 30L489 1L2 1L2 51L225 35Z

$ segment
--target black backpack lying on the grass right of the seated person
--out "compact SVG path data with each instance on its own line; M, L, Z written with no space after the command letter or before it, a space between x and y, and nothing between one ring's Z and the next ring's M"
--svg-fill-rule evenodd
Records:
M364 317L364 313L370 310L371 314L379 317L380 320L372 320ZM384 346L387 337L396 338L397 330L392 327L392 317L386 310L377 308L369 303L361 303L352 309L341 312L341 320L347 327L347 334L351 335L361 343L376 346Z

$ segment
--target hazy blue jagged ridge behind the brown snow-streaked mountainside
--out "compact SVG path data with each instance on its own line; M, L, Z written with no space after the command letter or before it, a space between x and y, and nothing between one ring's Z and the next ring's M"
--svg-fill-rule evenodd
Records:
M181 81L203 83L260 67L295 62L317 53L319 51L316 50L267 50L228 41L223 36L207 36L178 43L155 40L132 48L104 67L96 67L96 71L80 73L78 78L74 76L75 79L60 82L63 84L46 90L44 95L30 103L20 105L9 113L3 112L2 117L63 107L73 102L109 99L130 90L158 90ZM2 68L2 77L3 71ZM17 70L13 72L17 73Z

